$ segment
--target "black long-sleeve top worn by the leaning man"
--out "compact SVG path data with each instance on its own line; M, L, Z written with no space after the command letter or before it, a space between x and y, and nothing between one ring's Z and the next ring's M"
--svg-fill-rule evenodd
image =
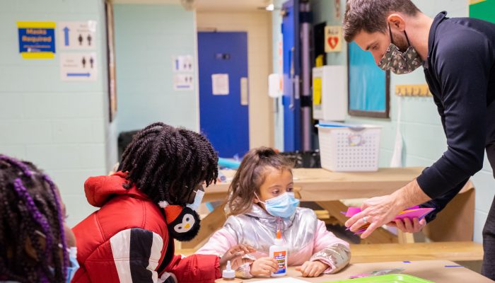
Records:
M448 149L417 178L437 211L483 167L495 167L495 24L439 13L431 25L424 74Z

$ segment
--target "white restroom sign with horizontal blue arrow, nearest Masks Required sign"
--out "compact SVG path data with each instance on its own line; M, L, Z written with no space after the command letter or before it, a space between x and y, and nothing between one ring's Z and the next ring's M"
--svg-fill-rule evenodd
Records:
M96 81L97 76L95 52L60 54L62 81Z

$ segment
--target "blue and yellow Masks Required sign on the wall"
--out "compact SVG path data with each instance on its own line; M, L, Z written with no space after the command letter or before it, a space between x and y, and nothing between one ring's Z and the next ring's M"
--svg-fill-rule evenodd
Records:
M19 52L24 59L55 57L55 23L17 22Z

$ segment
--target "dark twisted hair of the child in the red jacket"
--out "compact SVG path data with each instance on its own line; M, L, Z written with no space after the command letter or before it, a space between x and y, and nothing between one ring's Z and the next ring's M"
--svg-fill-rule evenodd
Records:
M218 160L202 134L156 122L132 138L120 170L153 202L184 205L199 183L216 183Z

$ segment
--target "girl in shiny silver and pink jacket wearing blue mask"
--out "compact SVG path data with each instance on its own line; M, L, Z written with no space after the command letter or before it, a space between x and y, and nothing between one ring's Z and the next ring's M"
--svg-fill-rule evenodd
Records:
M288 265L301 265L298 270L304 277L345 267L350 260L349 244L327 231L313 210L298 207L291 168L273 149L250 150L229 189L226 224L197 253L222 255L231 246L248 246L256 251L235 262L237 277L266 277L278 268L268 255L280 230L289 250Z

